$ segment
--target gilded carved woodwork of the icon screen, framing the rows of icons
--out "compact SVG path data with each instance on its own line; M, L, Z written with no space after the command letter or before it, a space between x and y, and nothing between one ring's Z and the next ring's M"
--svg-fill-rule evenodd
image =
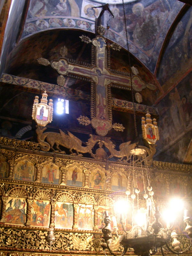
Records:
M82 251L82 254L83 252L93 252L93 254L95 254L95 252L102 251L101 243L98 238L101 236L101 231L98 229L98 209L100 206L108 206L112 208L117 199L126 198L125 190L132 190L134 188L132 164L128 164L127 162L108 161L108 166L106 167L106 163L99 159L83 159L79 156L70 156L69 159L68 156L59 154L53 155L52 153L46 153L46 155L43 156L35 151L28 154L27 152L19 152L19 150L14 152L4 148L0 149L0 152L3 154L4 158L7 159L7 162L12 161L10 165L7 164L5 172L10 173L10 168L13 168L12 179L9 178L9 175L0 178L0 193L2 195L1 222L6 222L0 224L0 237L2 237L2 239L0 239L0 246L2 249L6 247L10 249L13 248L16 251L27 249L31 252L32 250L43 250L43 252L48 252L48 250L50 250L50 245L46 240L47 232L49 227L55 227L55 206L59 202L60 204L72 205L73 223L68 229L54 228L54 236L56 240L52 244L52 252L68 251L68 253L73 254L74 251L80 250ZM14 173L16 167L22 161L28 161L34 165L33 180L19 180L15 178ZM58 181L57 184L42 182L42 166L45 166L46 164L54 164L58 166L60 181ZM177 188L177 186L180 186L180 189L182 188L183 196L186 196L188 204L191 204L191 194L186 186L190 181L189 173L191 172L191 166L163 162L153 162L153 164L158 167L148 166L148 172L150 179L155 183L154 188L157 186L156 190L158 190L158 184L163 182L165 184L163 189L165 188L166 190L164 191L164 194L155 194L154 200L163 205L165 203L165 196L171 195L173 189L178 190L179 188ZM168 166L170 168L168 168ZM70 186L67 183L70 178L69 171L74 170L75 168L78 168L79 171L82 172L82 186L80 187ZM134 175L142 175L140 163L136 164L134 169ZM92 183L94 184L94 174L96 174L97 171L99 171L104 178L103 187L101 188L91 185ZM144 175L146 175L144 166L143 172ZM118 174L126 179L126 188L124 191L112 190L113 179L114 177L117 177ZM38 182L36 182L37 180ZM41 182L39 182L39 180ZM179 185L177 181L179 182ZM9 197L13 198L13 200L21 198L26 201L26 219L23 225L15 225L5 221L6 205L8 204L8 199L10 200ZM139 207L143 207L145 199L142 194L139 195L139 197ZM48 201L51 204L50 222L48 227L31 226L33 216L31 209L36 200ZM79 228L79 217L77 212L79 204L93 207L92 230ZM120 252L121 247L119 247L118 243L118 239L115 238L112 246L114 246L114 250Z

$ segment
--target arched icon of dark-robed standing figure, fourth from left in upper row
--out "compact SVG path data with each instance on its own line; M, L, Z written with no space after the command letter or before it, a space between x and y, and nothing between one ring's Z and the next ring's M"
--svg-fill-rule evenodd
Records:
M80 168L76 166L70 167L68 169L67 185L82 187L82 176L83 171Z

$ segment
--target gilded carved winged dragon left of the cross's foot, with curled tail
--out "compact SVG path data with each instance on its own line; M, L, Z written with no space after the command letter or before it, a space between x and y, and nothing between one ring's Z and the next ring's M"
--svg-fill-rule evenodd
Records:
M40 144L41 150L43 151L49 151L52 149L53 151L56 151L53 146L56 144L56 148L58 149L60 153L65 153L65 151L61 151L59 146L63 146L65 148L69 148L69 151L72 155L78 155L83 156L80 153L92 153L92 148L99 140L92 140L92 135L90 135L91 138L89 138L88 142L86 142L87 146L82 146L82 141L78 139L75 135L68 132L66 134L65 132L60 130L60 133L56 132L44 132L47 128L41 128L40 126L37 126L36 134L37 134L37 140ZM44 132L44 133L43 133ZM47 142L44 140L46 139ZM76 153L73 153L72 149L76 150Z

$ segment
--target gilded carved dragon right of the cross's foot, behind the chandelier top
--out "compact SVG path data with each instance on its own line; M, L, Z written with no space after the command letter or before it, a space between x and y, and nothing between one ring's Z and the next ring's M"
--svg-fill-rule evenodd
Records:
M118 151L115 149L115 145L113 144L112 141L109 141L109 142L102 141L102 142L104 143L106 148L109 149L109 151L111 153L109 158L111 158L113 156L121 157L120 161L122 161L124 159L124 157L127 158L125 161L128 161L129 157L131 156L130 151L137 146L136 143L130 144L131 141L127 141L127 142L121 143L119 145L120 150Z

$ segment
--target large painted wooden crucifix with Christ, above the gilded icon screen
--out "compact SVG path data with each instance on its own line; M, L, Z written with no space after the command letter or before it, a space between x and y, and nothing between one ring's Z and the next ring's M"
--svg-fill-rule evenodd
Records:
M112 128L112 107L111 107L111 86L123 89L131 89L130 75L128 73L112 72L107 66L106 40L98 35L89 42L96 49L96 61L92 67L69 63L65 58L67 48L61 54L59 60L49 62L44 58L39 58L38 62L43 65L51 64L63 76L76 75L76 77L88 78L91 80L91 124L100 136L105 136ZM110 46L109 46L110 47ZM132 86L137 92L146 88L146 84L137 75L132 75Z

